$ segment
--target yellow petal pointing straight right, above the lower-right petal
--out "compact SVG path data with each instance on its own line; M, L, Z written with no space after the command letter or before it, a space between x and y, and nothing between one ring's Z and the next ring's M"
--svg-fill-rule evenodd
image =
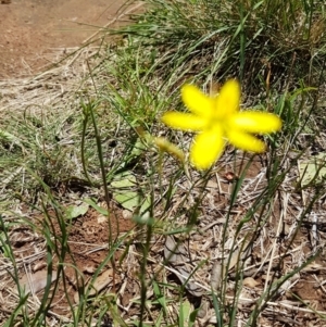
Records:
M281 121L274 114L246 111L233 115L229 125L243 131L264 134L279 130Z

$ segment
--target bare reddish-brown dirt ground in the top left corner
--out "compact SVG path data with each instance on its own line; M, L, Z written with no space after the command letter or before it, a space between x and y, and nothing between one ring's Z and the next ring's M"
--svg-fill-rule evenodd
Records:
M43 70L55 62L58 53L87 43L99 27L126 24L126 14L135 8L135 3L124 5L125 0L89 3L89 0L1 0L0 79Z

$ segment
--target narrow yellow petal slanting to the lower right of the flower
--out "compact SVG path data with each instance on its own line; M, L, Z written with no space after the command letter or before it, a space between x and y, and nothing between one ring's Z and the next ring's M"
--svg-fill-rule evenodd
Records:
M256 137L237 129L227 130L227 138L231 144L244 151L264 152L266 146Z

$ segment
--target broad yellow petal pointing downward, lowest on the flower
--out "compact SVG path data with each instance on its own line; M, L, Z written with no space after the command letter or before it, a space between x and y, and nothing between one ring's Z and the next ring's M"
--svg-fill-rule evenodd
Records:
M215 127L197 135L190 149L190 161L198 169L208 169L222 154L225 141L222 128Z

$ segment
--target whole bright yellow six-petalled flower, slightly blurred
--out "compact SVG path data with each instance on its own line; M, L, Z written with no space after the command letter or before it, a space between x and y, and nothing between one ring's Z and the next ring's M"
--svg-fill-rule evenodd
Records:
M279 130L278 116L264 112L239 112L240 85L230 79L220 93L209 97L193 85L181 88L181 97L191 113L166 112L162 122L170 127L198 131L190 149L190 161L198 169L209 168L222 154L226 140L235 147L263 152L265 143L252 134Z

